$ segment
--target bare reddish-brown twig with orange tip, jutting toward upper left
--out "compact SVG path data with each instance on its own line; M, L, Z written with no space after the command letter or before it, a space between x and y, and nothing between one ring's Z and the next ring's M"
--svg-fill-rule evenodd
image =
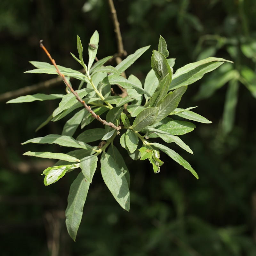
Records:
M84 100L82 100L79 95L77 94L77 92L74 91L74 89L71 87L71 85L68 83L68 80L66 79L66 77L60 72L59 68L57 67L55 60L52 59L52 56L50 55L50 53L46 50L46 48L44 47L44 45L42 44L43 40L40 40L40 47L43 48L44 52L47 54L47 56L49 57L49 59L52 61L52 64L54 65L54 67L56 68L57 73L59 74L59 76L62 78L63 82L68 86L69 90L75 95L76 99L84 106L84 108L86 108L86 110L88 112L90 112L92 114L92 116L99 120L102 124L104 125L108 125L109 127L116 129L116 130L120 130L121 126L116 126L115 124L111 123L111 122L106 122L106 120L103 120L100 118L100 116L96 115L96 113L94 111L92 111L91 107L88 106Z

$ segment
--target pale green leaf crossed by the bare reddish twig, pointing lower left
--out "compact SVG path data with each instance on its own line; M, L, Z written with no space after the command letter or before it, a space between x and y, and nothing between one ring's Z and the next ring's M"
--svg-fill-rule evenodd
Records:
M91 92L92 89L81 89L81 90L77 90L75 92L77 92L77 94L79 95L79 97L82 99L84 98L85 95L87 95L88 92ZM65 109L71 108L73 105L75 105L77 103L77 99L76 96L73 93L68 93L66 94L62 100L60 101L59 104L59 109L58 111L56 111L57 109L55 109L52 113L52 116L57 116L60 112L62 112ZM81 104L81 103L80 103ZM81 104L82 105L82 104Z

